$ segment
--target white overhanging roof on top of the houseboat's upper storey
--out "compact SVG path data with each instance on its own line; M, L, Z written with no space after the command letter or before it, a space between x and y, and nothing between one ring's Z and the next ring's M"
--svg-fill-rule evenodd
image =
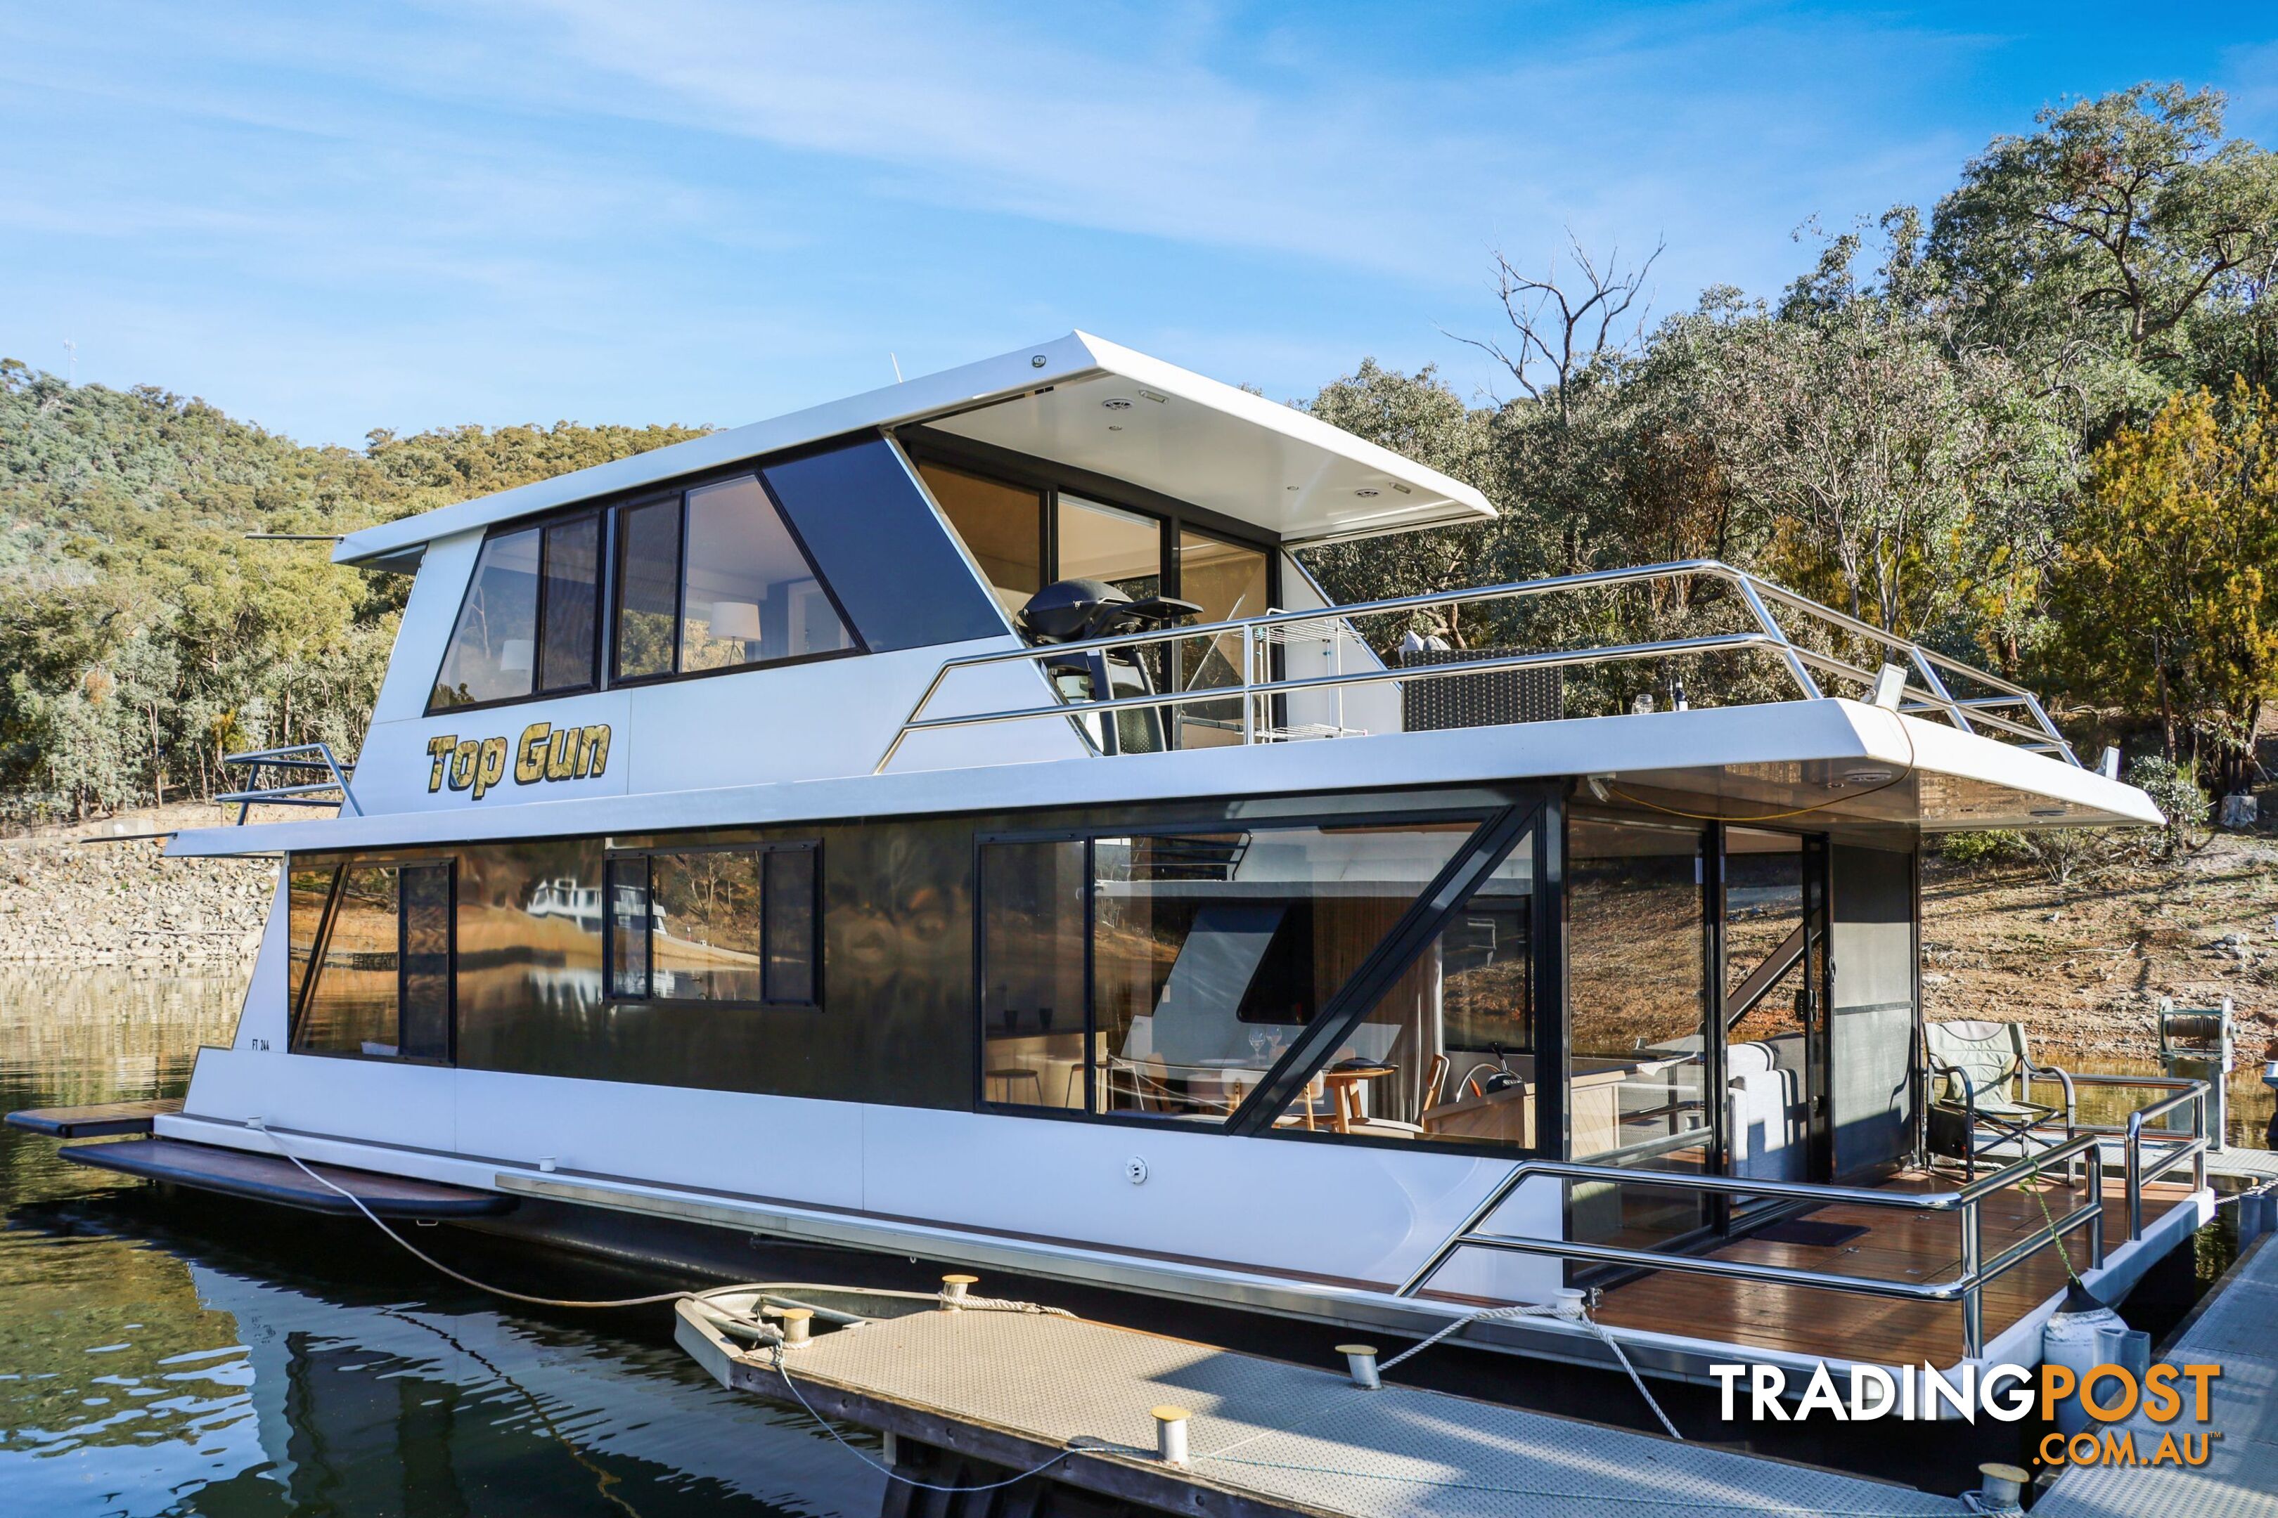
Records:
M845 432L916 423L1125 480L1246 521L1285 544L1494 517L1474 487L1390 448L1089 332L1068 332L904 385L364 528L342 539L333 558L342 564L401 560L431 539L494 521Z

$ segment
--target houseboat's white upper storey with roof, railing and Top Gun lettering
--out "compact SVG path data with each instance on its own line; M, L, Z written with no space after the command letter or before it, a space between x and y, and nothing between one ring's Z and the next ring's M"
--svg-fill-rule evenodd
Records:
M353 808L173 851L1529 776L1920 828L2157 819L2023 687L1724 564L1330 605L1292 553L1485 517L1068 335L344 539L417 571ZM1068 578L1191 612L1023 637ZM1458 619L1467 649L1433 637Z

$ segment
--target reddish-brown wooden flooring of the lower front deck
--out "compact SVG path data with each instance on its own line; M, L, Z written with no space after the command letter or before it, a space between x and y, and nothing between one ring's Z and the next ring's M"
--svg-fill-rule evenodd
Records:
M1948 1179L1907 1174L1886 1181L1886 1190L1929 1190ZM2191 1195L2187 1183L2153 1181L2144 1188L2144 1227ZM2052 1186L2046 1195L2050 1213L2071 1211L2071 1197ZM2041 1206L2032 1193L2002 1190L1980 1202L1984 1245L1982 1259L1993 1259L2030 1229L2041 1227ZM1711 1256L1793 1265L1829 1274L1870 1274L1882 1279L1941 1281L1961 1272L1961 1215L1914 1213L1884 1206L1829 1204L1811 1211L1813 1222L1859 1224L1868 1229L1843 1245L1781 1245L1738 1238L1711 1249ZM2128 1199L2121 1181L2105 1181L2105 1247L2128 1238ZM2064 1247L2087 1268L2087 1224L2066 1234ZM2011 1265L1984 1288L1984 1336L2014 1325L2027 1311L2064 1290L2064 1261L2057 1249L2041 1249ZM1898 1302L1863 1297L1816 1286L1777 1286L1768 1281L1724 1281L1702 1274L1654 1272L1606 1290L1597 1309L1599 1322L1633 1329L1677 1331L1697 1338L1722 1338L1761 1350L1868 1361L1877 1366L1952 1366L1961 1359L1961 1306L1943 1302Z

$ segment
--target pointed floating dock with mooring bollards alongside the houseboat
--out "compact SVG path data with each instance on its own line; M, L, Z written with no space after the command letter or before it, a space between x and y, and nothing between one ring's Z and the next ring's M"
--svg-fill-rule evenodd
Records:
M775 1350L681 1311L727 1386L790 1400ZM1210 1518L1606 1518L1961 1513L1904 1486L1652 1438L1435 1391L1362 1391L1287 1361L1014 1311L918 1311L784 1350L811 1411L1009 1470ZM1150 1409L1191 1413L1185 1470Z

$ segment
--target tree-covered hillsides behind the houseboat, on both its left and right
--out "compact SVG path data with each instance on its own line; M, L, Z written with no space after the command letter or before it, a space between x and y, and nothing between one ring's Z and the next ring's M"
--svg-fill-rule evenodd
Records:
M1811 237L1788 289L1674 314L1652 310L1652 257L1499 257L1501 310L1458 337L1501 360L1506 396L1362 362L1305 405L1476 482L1501 519L1314 567L1362 599L1724 558L2052 692L2082 744L2219 790L2262 778L2278 155L2230 137L2212 91L2139 86L1996 139L1927 212ZM342 533L690 435L303 448L0 364L0 808L84 815L210 790L237 746L358 746L405 580L246 533ZM1636 592L1565 626L1417 630L1478 646L1718 614Z

